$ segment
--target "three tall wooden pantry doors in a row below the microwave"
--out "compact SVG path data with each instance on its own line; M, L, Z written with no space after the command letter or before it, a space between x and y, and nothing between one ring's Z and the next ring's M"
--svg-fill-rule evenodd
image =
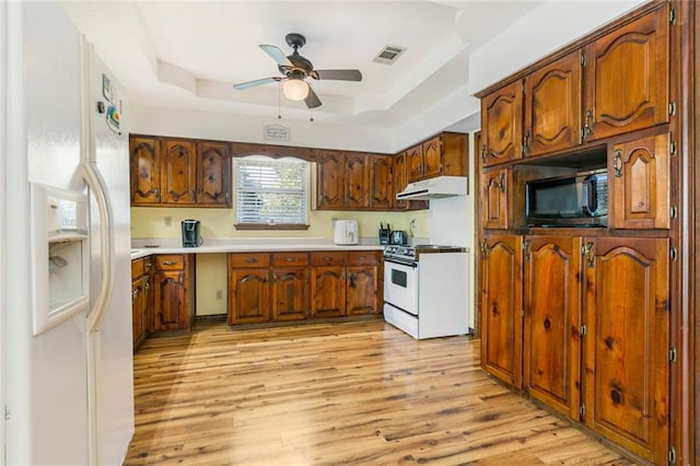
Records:
M668 256L667 238L486 235L482 368L665 464Z

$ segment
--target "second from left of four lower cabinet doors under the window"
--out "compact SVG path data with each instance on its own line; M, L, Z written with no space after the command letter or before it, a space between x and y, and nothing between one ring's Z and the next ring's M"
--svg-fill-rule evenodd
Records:
M272 277L272 318L305 318L308 312L308 268L275 268Z

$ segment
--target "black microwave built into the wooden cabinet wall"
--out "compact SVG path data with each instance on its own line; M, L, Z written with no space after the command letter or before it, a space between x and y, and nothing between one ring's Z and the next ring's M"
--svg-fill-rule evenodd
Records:
M528 226L607 226L607 171L526 182L525 214Z

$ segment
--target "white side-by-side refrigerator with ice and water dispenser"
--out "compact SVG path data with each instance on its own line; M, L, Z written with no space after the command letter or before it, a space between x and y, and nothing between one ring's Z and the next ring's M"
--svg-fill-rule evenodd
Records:
M133 433L126 96L59 3L3 3L5 461L118 465Z

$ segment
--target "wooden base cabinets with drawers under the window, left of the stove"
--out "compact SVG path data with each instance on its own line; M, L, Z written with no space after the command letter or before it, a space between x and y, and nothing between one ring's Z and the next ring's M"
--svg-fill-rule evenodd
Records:
M229 325L377 314L381 253L229 254Z

